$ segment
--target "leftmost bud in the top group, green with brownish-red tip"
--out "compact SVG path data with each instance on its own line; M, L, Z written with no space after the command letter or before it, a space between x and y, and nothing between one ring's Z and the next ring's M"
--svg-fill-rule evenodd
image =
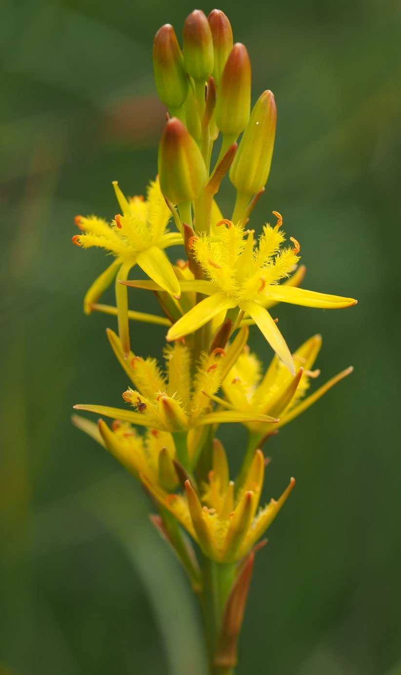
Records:
M184 59L173 26L165 24L153 42L153 68L159 98L169 108L179 108L188 94Z

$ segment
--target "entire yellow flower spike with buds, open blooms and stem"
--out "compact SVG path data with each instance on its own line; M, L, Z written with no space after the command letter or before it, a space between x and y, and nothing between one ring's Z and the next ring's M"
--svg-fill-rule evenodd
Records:
M207 18L192 12L184 25L183 51L173 27L163 26L155 36L153 60L157 92L168 108L158 177L146 199L126 198L115 182L119 213L113 221L77 216L80 234L73 237L82 248L104 248L113 256L86 293L84 311L117 315L118 333L109 329L107 334L129 385L122 408L74 406L100 415L99 425L78 416L74 423L152 497L159 509L153 523L176 551L203 604L215 603L214 614L221 617L208 629L211 664L231 668L255 545L295 482L290 480L277 501L259 506L267 463L263 443L352 371L309 394L320 373L313 368L321 337L292 353L270 310L282 302L325 309L356 300L300 288L305 273L300 244L294 236L285 243L276 211L277 221L265 223L259 234L247 229L269 177L276 109L266 90L250 110L250 60L246 47L234 44L225 14L215 9ZM236 202L223 217L215 196L227 174ZM186 257L173 263L165 250L177 244ZM135 265L146 279L128 278ZM114 279L115 306L99 304ZM129 309L130 288L153 292L161 315ZM130 319L167 327L163 365L132 351ZM273 350L265 373L248 347L253 325ZM111 427L103 417L113 419ZM230 451L217 439L223 423L239 423L248 431L242 466L231 479ZM200 549L200 564L184 531ZM210 564L217 566L215 578L225 578L217 595L208 581Z

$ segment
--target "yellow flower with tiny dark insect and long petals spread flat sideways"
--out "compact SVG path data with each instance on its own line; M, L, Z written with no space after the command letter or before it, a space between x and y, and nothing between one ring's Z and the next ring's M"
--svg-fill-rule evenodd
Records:
M203 354L193 377L190 373L190 350L186 345L177 342L167 346L164 374L154 358L140 358L132 352L128 359L124 358L117 335L111 330L107 334L117 359L134 385L134 388L124 391L123 398L135 410L87 404L74 406L76 410L89 410L141 427L178 434L221 423L277 423L276 418L265 414L235 409L211 410L215 392L242 352L247 329L238 333L227 352L217 349L211 354ZM193 445L196 447L196 443ZM180 461L188 466L188 448L180 448L180 451L184 453Z

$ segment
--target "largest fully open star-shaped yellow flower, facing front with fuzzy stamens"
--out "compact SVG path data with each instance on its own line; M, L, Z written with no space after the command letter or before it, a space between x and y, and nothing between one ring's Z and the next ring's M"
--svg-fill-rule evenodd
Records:
M196 260L209 280L194 280L190 286L185 282L181 288L209 297L171 326L167 340L178 340L217 314L239 308L242 316L249 315L255 321L267 342L295 375L290 350L264 305L289 302L307 307L340 308L356 304L356 300L278 285L280 279L289 277L293 271L300 250L298 242L292 238L294 248L282 248L285 236L279 229L281 216L275 227L263 227L255 250L252 230L244 232L240 225L233 225L231 221L223 223L228 227L221 227L218 237L205 235L192 242Z

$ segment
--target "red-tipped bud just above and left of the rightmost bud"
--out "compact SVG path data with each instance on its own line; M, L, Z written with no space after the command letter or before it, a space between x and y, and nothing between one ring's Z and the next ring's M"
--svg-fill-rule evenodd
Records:
M223 134L237 138L250 113L250 60L246 47L236 43L227 59L217 96L215 119Z

